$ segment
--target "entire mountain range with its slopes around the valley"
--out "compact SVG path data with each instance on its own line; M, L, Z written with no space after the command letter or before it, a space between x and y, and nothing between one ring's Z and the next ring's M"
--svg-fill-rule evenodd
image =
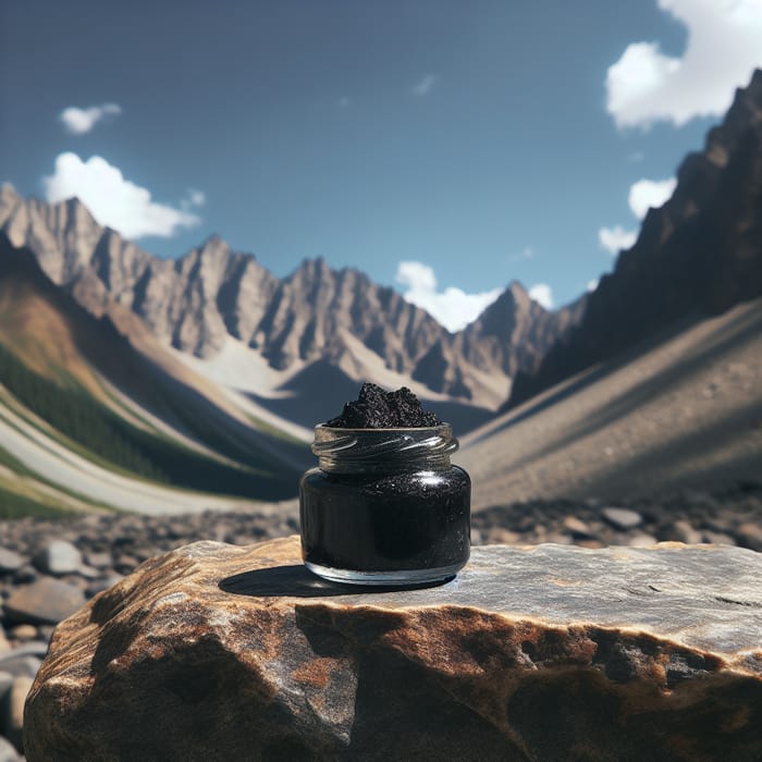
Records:
M593 293L551 312L513 282L457 333L351 268L305 260L279 279L219 236L163 260L75 198L4 185L0 502L150 513L288 499L311 427L366 380L408 385L470 431L477 505L753 476L761 221L762 72ZM712 403L709 426L683 395L716 402L723 384L733 404ZM673 440L684 466L667 478ZM636 442L634 478L606 470Z

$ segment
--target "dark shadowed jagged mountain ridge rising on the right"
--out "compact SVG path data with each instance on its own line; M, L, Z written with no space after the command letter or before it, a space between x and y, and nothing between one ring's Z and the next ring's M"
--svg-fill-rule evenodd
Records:
M520 369L508 407L679 320L762 295L762 70L738 89L702 152L678 171L672 198L650 209L635 245L604 275L579 324L538 369Z

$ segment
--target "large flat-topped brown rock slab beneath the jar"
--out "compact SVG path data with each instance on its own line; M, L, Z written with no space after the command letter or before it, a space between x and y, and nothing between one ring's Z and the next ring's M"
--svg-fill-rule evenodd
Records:
M296 538L199 542L63 622L27 759L762 757L762 556L477 548L454 581L369 592ZM139 733L135 728L140 728Z

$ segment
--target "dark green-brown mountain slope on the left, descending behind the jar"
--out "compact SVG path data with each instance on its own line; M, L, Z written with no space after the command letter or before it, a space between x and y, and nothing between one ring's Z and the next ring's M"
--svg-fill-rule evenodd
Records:
M158 367L109 316L94 318L0 235L7 418L21 416L102 468L251 499L291 496L306 446L258 430L245 408L230 415L184 383L184 370L173 377Z

